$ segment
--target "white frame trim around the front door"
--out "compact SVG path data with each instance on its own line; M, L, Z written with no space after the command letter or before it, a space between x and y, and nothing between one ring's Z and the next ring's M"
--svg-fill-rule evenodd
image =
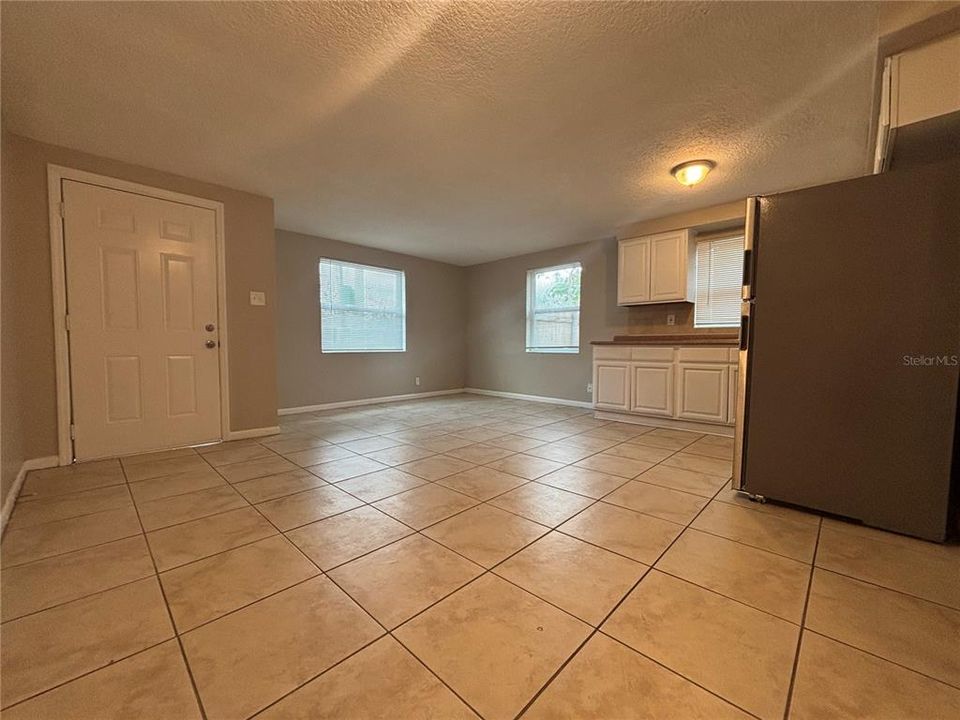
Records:
M230 376L227 366L227 295L226 262L223 236L223 203L192 195L128 182L118 178L96 175L83 170L47 165L47 197L50 213L50 267L53 275L53 336L57 363L57 439L61 465L73 462L73 440L70 437L70 337L67 334L67 275L63 246L62 180L75 180L98 185L109 190L144 195L158 200L193 205L213 210L216 214L217 244L217 323L220 347L220 437L230 437Z

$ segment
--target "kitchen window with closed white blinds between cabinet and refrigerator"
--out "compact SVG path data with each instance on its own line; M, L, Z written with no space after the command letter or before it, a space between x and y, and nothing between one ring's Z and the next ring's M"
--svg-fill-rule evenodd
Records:
M740 324L742 271L742 235L697 243L694 327L736 327Z

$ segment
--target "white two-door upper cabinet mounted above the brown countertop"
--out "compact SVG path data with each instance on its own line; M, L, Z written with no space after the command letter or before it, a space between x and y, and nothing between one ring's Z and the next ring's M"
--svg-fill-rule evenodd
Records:
M693 244L689 230L621 240L617 304L693 302Z

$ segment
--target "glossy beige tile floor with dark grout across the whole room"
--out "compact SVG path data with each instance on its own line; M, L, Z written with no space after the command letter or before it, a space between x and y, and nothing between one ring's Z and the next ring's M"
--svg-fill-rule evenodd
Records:
M3 716L960 716L960 548L751 503L730 458L464 395L33 472Z

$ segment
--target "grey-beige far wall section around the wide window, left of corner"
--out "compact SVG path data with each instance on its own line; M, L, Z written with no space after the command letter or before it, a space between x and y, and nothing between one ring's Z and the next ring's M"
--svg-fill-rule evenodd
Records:
M403 270L407 350L320 352L321 257ZM277 378L281 408L463 387L466 270L409 255L277 231ZM414 384L420 376L421 385Z

